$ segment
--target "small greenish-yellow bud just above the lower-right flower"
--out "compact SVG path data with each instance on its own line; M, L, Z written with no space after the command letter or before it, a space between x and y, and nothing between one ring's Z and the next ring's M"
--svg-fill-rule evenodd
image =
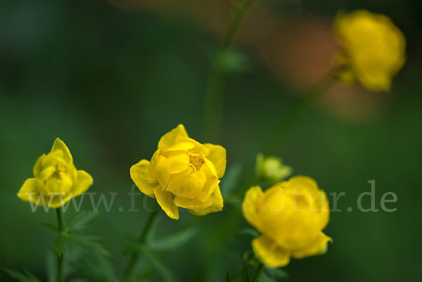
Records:
M269 181L271 184L286 179L292 174L292 168L283 165L281 158L264 157L261 153L257 155L256 170L258 177Z

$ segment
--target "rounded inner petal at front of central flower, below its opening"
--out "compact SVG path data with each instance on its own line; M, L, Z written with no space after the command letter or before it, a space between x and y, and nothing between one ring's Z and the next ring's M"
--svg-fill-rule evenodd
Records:
M180 174L170 181L166 190L175 196L183 198L195 198L200 192L202 185L195 174Z

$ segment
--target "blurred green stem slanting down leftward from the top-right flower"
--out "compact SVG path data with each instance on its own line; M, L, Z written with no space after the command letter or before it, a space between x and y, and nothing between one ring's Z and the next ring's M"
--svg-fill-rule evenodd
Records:
M302 98L298 98L293 102L293 105L283 115L279 123L274 126L275 130L272 136L267 139L267 143L265 143L261 150L264 154L274 153L275 148L283 146L288 135L295 129L312 103L333 84L333 75L335 72L337 72L337 68L329 70L316 84L308 89L308 91L305 91Z

